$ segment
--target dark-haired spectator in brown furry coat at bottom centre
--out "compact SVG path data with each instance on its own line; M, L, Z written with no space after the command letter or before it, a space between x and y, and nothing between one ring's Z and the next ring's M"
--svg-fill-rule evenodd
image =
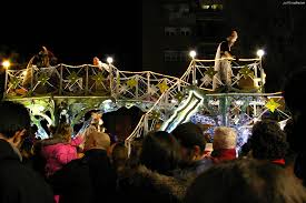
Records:
M140 164L126 168L118 182L121 201L134 203L181 202L187 181L172 176L180 162L179 143L166 131L145 135L139 154Z

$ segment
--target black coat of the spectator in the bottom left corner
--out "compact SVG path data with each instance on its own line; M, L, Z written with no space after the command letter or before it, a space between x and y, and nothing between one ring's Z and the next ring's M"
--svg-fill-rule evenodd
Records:
M51 189L43 179L24 166L9 142L0 139L0 202L52 203Z

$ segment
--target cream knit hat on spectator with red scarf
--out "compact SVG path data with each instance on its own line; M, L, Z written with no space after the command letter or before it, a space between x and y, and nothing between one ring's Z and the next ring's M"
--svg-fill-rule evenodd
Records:
M233 128L217 126L214 134L214 149L235 149L237 133Z

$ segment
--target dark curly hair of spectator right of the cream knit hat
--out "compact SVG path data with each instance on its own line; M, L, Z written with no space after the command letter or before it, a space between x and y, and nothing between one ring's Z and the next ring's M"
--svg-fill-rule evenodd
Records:
M274 120L255 123L249 141L253 156L259 160L284 159L288 150L286 134Z

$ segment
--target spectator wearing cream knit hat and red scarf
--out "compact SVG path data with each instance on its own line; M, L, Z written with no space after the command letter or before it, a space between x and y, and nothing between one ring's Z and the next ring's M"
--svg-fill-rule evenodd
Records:
M217 126L214 132L214 151L211 152L214 163L235 160L237 158L236 143L237 132L233 128Z

